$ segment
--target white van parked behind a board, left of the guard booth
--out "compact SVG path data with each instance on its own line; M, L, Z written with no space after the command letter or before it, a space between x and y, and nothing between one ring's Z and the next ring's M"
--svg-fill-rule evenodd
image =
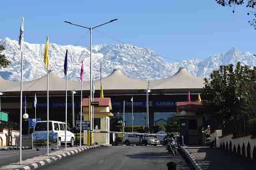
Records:
M61 121L49 121L49 132L58 133L58 147L61 146L62 143L65 143L65 127L66 123ZM74 133L69 131L69 127L67 127L67 143L69 143L70 147L74 146ZM47 121L37 121L34 127L34 133L47 133Z

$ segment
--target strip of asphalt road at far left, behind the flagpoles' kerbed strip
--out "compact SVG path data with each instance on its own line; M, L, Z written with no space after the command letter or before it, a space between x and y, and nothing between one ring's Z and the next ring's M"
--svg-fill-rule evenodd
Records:
M54 151L51 151L54 152ZM22 150L22 160L32 158L34 156L39 156L46 154L46 149L41 149L39 151L32 149ZM20 161L20 150L0 150L0 166L8 165L11 163L16 163Z

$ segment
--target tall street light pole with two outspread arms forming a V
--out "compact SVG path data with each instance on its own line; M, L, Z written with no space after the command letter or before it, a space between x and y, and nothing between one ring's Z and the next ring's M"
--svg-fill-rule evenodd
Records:
M106 25L106 24L116 21L116 20L118 20L118 19L110 20L110 21L108 21L106 23L102 23L96 27L84 27L82 25L77 25L77 24L71 23L69 21L64 21L66 23L69 23L70 25L76 25L78 27L82 27L82 28L86 28L86 29L90 30L90 102L89 102L90 104L92 102L92 29L100 27L102 25ZM90 107L90 131L92 131L92 106L89 106L89 107ZM91 140L90 140L90 145L92 145Z

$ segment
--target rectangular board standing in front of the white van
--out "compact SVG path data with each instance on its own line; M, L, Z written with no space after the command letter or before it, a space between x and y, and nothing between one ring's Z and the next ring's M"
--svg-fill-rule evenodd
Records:
M33 149L47 148L47 133L32 133ZM58 133L49 133L49 149L58 149Z

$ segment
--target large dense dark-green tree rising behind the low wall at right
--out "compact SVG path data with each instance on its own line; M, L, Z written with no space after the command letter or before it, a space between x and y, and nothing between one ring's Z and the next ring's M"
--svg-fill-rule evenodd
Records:
M218 121L243 120L252 122L256 118L256 67L242 66L240 62L220 66L205 78L203 102L208 113Z

